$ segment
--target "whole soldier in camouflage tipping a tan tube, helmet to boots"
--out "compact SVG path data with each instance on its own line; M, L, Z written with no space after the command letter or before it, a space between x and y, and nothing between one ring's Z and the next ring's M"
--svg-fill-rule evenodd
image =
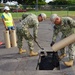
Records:
M50 16L50 20L54 24L54 34L51 42L51 46L55 43L57 35L59 32L62 32L61 38L65 38L73 33L75 30L75 21L70 17L59 17L57 14L52 14ZM75 52L75 43L70 44L68 46L68 53L69 53L69 61L64 62L66 66L72 66L74 61L74 52ZM60 59L66 56L65 48L60 50L61 55L59 56Z

